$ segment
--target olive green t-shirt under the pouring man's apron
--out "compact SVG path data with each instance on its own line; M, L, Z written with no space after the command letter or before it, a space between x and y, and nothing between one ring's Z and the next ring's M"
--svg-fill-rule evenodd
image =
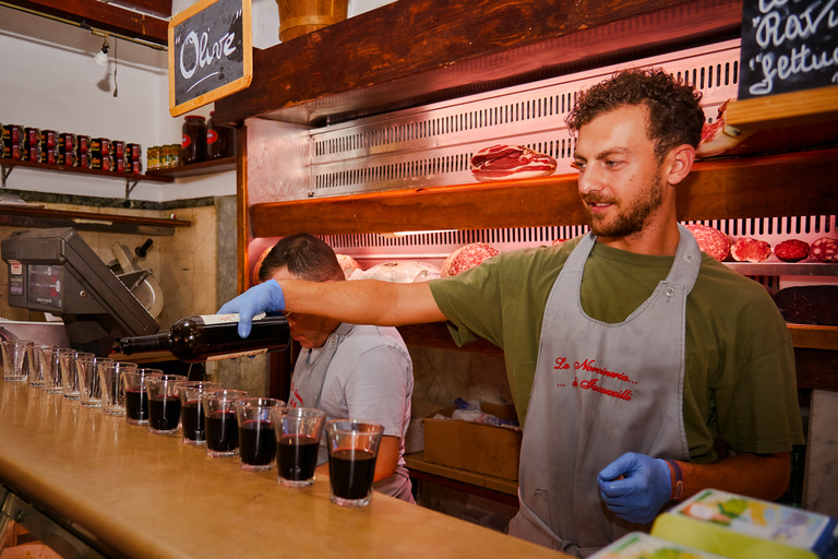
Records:
M544 306L578 240L503 252L430 283L457 345L479 336L503 349L522 423ZM603 322L622 322L666 278L672 261L595 245L583 273L585 312ZM686 300L684 426L697 463L718 460L713 450L718 438L738 452L788 452L804 443L794 350L782 316L762 285L706 253Z

